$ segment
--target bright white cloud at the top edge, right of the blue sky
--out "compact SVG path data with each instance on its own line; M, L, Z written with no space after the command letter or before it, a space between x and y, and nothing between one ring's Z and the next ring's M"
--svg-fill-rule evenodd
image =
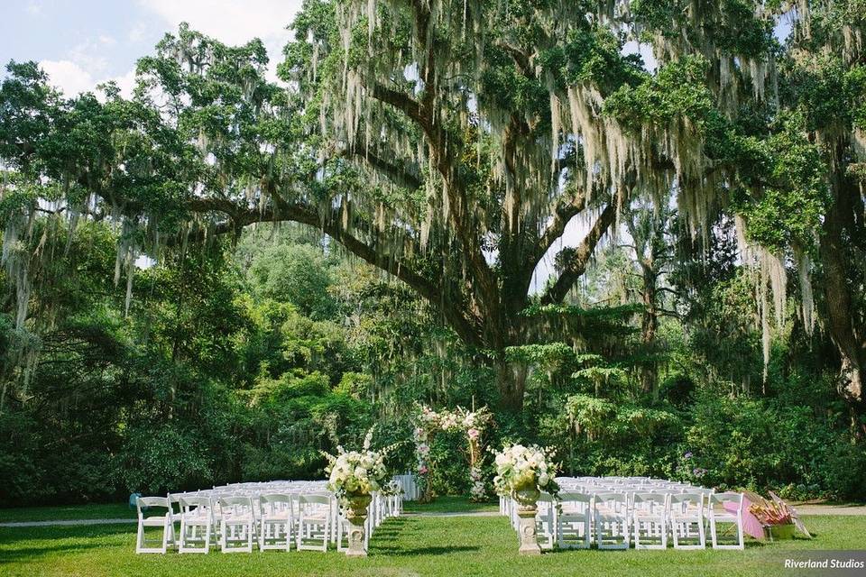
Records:
M181 22L227 44L253 38L285 40L285 30L300 10L301 0L139 0L172 28ZM273 55L272 55L273 56Z

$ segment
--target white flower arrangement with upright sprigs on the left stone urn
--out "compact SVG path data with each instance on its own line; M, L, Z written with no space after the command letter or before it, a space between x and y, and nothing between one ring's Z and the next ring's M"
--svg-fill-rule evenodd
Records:
M369 495L373 491L388 489L390 475L384 461L397 445L373 451L370 448L372 441L373 428L364 436L361 451L346 451L338 445L336 455L322 452L327 459L327 488L334 491L336 498L344 505L353 495Z

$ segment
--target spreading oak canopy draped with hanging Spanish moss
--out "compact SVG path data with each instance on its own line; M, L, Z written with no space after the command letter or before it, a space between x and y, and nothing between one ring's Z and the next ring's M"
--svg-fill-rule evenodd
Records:
M228 47L186 25L139 61L131 98L114 86L70 98L35 64L12 63L0 218L14 324L56 255L47 239L84 220L119 231L127 309L139 255L294 221L437 307L519 408L525 367L504 352L552 326L524 311L567 304L642 198L677 207L681 256L706 254L735 223L765 366L795 284L798 322L829 336L840 391L859 403L863 8L308 0L280 66L287 86L266 80L261 41ZM563 247L574 222L585 235ZM556 274L536 289L546 256Z

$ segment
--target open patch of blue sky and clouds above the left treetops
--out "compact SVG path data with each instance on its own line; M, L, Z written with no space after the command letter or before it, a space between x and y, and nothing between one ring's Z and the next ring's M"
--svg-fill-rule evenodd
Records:
M135 60L181 22L228 44L261 38L275 79L301 0L5 0L0 62L35 60L68 96L115 80L128 94Z

